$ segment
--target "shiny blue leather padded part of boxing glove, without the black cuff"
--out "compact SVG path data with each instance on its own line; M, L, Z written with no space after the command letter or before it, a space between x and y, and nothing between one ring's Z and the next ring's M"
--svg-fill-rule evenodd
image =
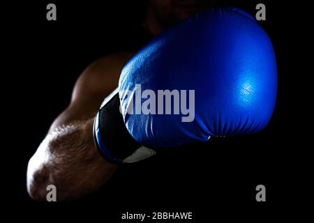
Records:
M124 90L195 90L195 120L127 114ZM130 134L143 145L177 146L262 130L276 102L276 58L267 33L247 13L210 9L158 35L126 64L119 91Z

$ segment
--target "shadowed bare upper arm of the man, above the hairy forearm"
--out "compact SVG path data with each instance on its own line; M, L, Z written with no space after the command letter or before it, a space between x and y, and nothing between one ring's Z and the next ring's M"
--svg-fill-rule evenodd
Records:
M50 130L95 116L104 98L117 88L124 64L132 53L103 57L92 63L75 83L70 105L56 118Z

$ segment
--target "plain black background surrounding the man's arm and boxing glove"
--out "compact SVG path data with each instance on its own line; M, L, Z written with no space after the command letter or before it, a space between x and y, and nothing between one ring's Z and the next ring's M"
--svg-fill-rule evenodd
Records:
M47 3L57 5L56 22L46 20ZM307 63L303 53L307 49L303 45L306 36L301 34L308 29L308 6L287 1L233 1L230 5L255 15L257 3L267 7L267 21L259 24L269 33L278 63L278 98L267 128L245 137L181 146L122 167L101 190L69 203L32 201L26 190L27 162L54 118L68 105L82 70L100 56L142 42L135 30L146 3L13 3L5 24L12 35L3 42L11 49L6 54L9 71L4 76L8 79L2 83L8 89L3 93L8 102L4 122L9 124L9 144L4 149L13 152L3 158L8 159L3 160L8 162L4 169L8 190L3 190L8 207L22 211L27 219L100 216L101 222L116 222L126 211L188 211L195 213L197 222L209 221L214 215L248 217L251 222L269 214L291 215L293 211L287 210L301 203L296 199L306 197L309 185L305 180L311 178L302 161L307 131L299 127L308 100L297 95L304 91L309 73L302 66ZM266 186L267 202L255 201L259 184Z

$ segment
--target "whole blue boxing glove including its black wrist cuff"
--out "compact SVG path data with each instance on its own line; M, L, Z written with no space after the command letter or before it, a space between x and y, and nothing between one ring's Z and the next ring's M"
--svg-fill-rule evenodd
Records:
M267 33L242 10L210 9L128 61L119 93L95 118L96 146L111 162L135 162L155 148L258 132L274 111L276 89Z

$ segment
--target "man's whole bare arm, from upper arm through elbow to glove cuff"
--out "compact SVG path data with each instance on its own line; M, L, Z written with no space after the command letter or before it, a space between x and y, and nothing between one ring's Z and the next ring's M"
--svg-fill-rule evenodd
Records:
M52 123L47 136L29 160L27 190L45 200L47 185L57 187L57 200L76 199L97 190L117 169L100 156L93 141L93 121L105 96L118 84L132 54L99 59L75 84L70 105Z

